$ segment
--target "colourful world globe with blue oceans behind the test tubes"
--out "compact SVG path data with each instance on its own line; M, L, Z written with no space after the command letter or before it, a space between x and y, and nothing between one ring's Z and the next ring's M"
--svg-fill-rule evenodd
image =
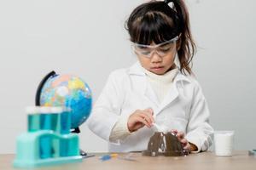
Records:
M90 116L91 91L81 78L71 75L49 77L40 93L40 105L71 109L71 128L79 127Z

